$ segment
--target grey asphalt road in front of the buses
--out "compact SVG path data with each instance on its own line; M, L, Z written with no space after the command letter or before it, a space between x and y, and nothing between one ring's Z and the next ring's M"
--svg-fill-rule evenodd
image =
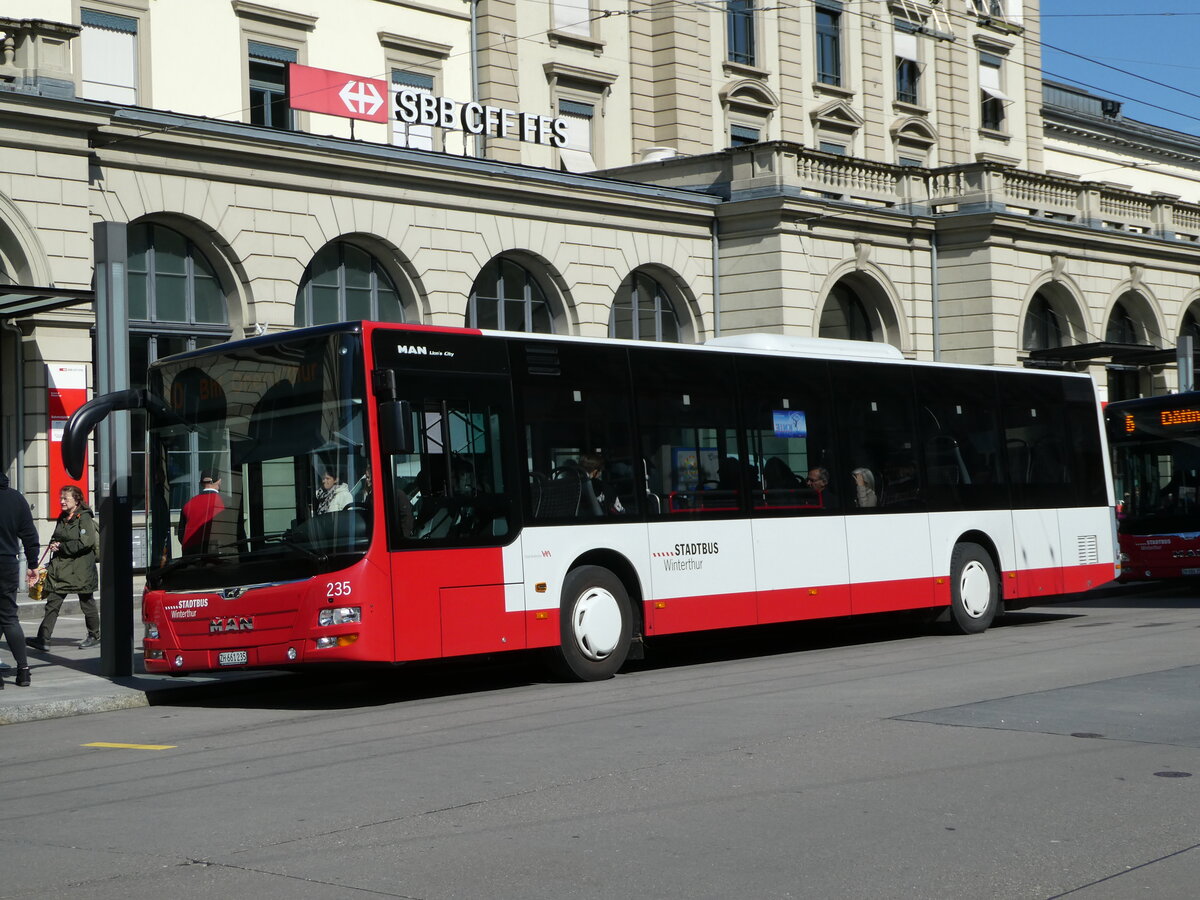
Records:
M0 898L1200 895L1195 587L650 650L5 727Z

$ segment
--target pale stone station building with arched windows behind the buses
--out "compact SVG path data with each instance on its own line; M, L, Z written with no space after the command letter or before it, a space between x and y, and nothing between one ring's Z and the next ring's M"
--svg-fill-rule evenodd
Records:
M1200 336L1200 139L1044 86L1036 0L6 13L0 460L43 520L48 367L96 382L97 222L127 227L134 380L180 349L371 316L1032 355L1126 396L1174 386L1176 336ZM566 139L290 110L292 62Z

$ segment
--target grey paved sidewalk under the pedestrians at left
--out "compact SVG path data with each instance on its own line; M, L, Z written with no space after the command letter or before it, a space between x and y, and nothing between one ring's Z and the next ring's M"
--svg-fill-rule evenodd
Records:
M30 619L23 610L20 624L26 636L37 634L40 620L40 613L37 618ZM86 629L83 616L76 606L74 612L60 616L49 653L26 648L32 670L32 684L29 688L18 688L13 683L17 668L8 652L8 643L0 636L0 662L11 666L0 670L0 677L4 679L4 690L0 690L0 725L145 707L155 702L156 697L161 700L168 692L197 688L220 689L236 682L278 676L278 672L264 670L214 672L178 678L138 674L142 672L140 623L136 623L136 628L134 674L109 678L101 674L100 647L88 650L77 648Z

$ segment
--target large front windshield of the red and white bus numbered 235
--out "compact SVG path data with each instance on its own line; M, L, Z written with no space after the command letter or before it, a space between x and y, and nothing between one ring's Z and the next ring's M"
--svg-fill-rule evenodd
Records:
M371 538L361 336L252 342L157 364L148 581L194 589L344 568Z

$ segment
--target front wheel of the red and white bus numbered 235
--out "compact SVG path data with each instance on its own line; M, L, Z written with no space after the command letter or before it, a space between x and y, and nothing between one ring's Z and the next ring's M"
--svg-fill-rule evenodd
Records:
M559 613L559 673L578 682L617 674L634 634L629 593L620 578L598 565L574 569L563 582Z

